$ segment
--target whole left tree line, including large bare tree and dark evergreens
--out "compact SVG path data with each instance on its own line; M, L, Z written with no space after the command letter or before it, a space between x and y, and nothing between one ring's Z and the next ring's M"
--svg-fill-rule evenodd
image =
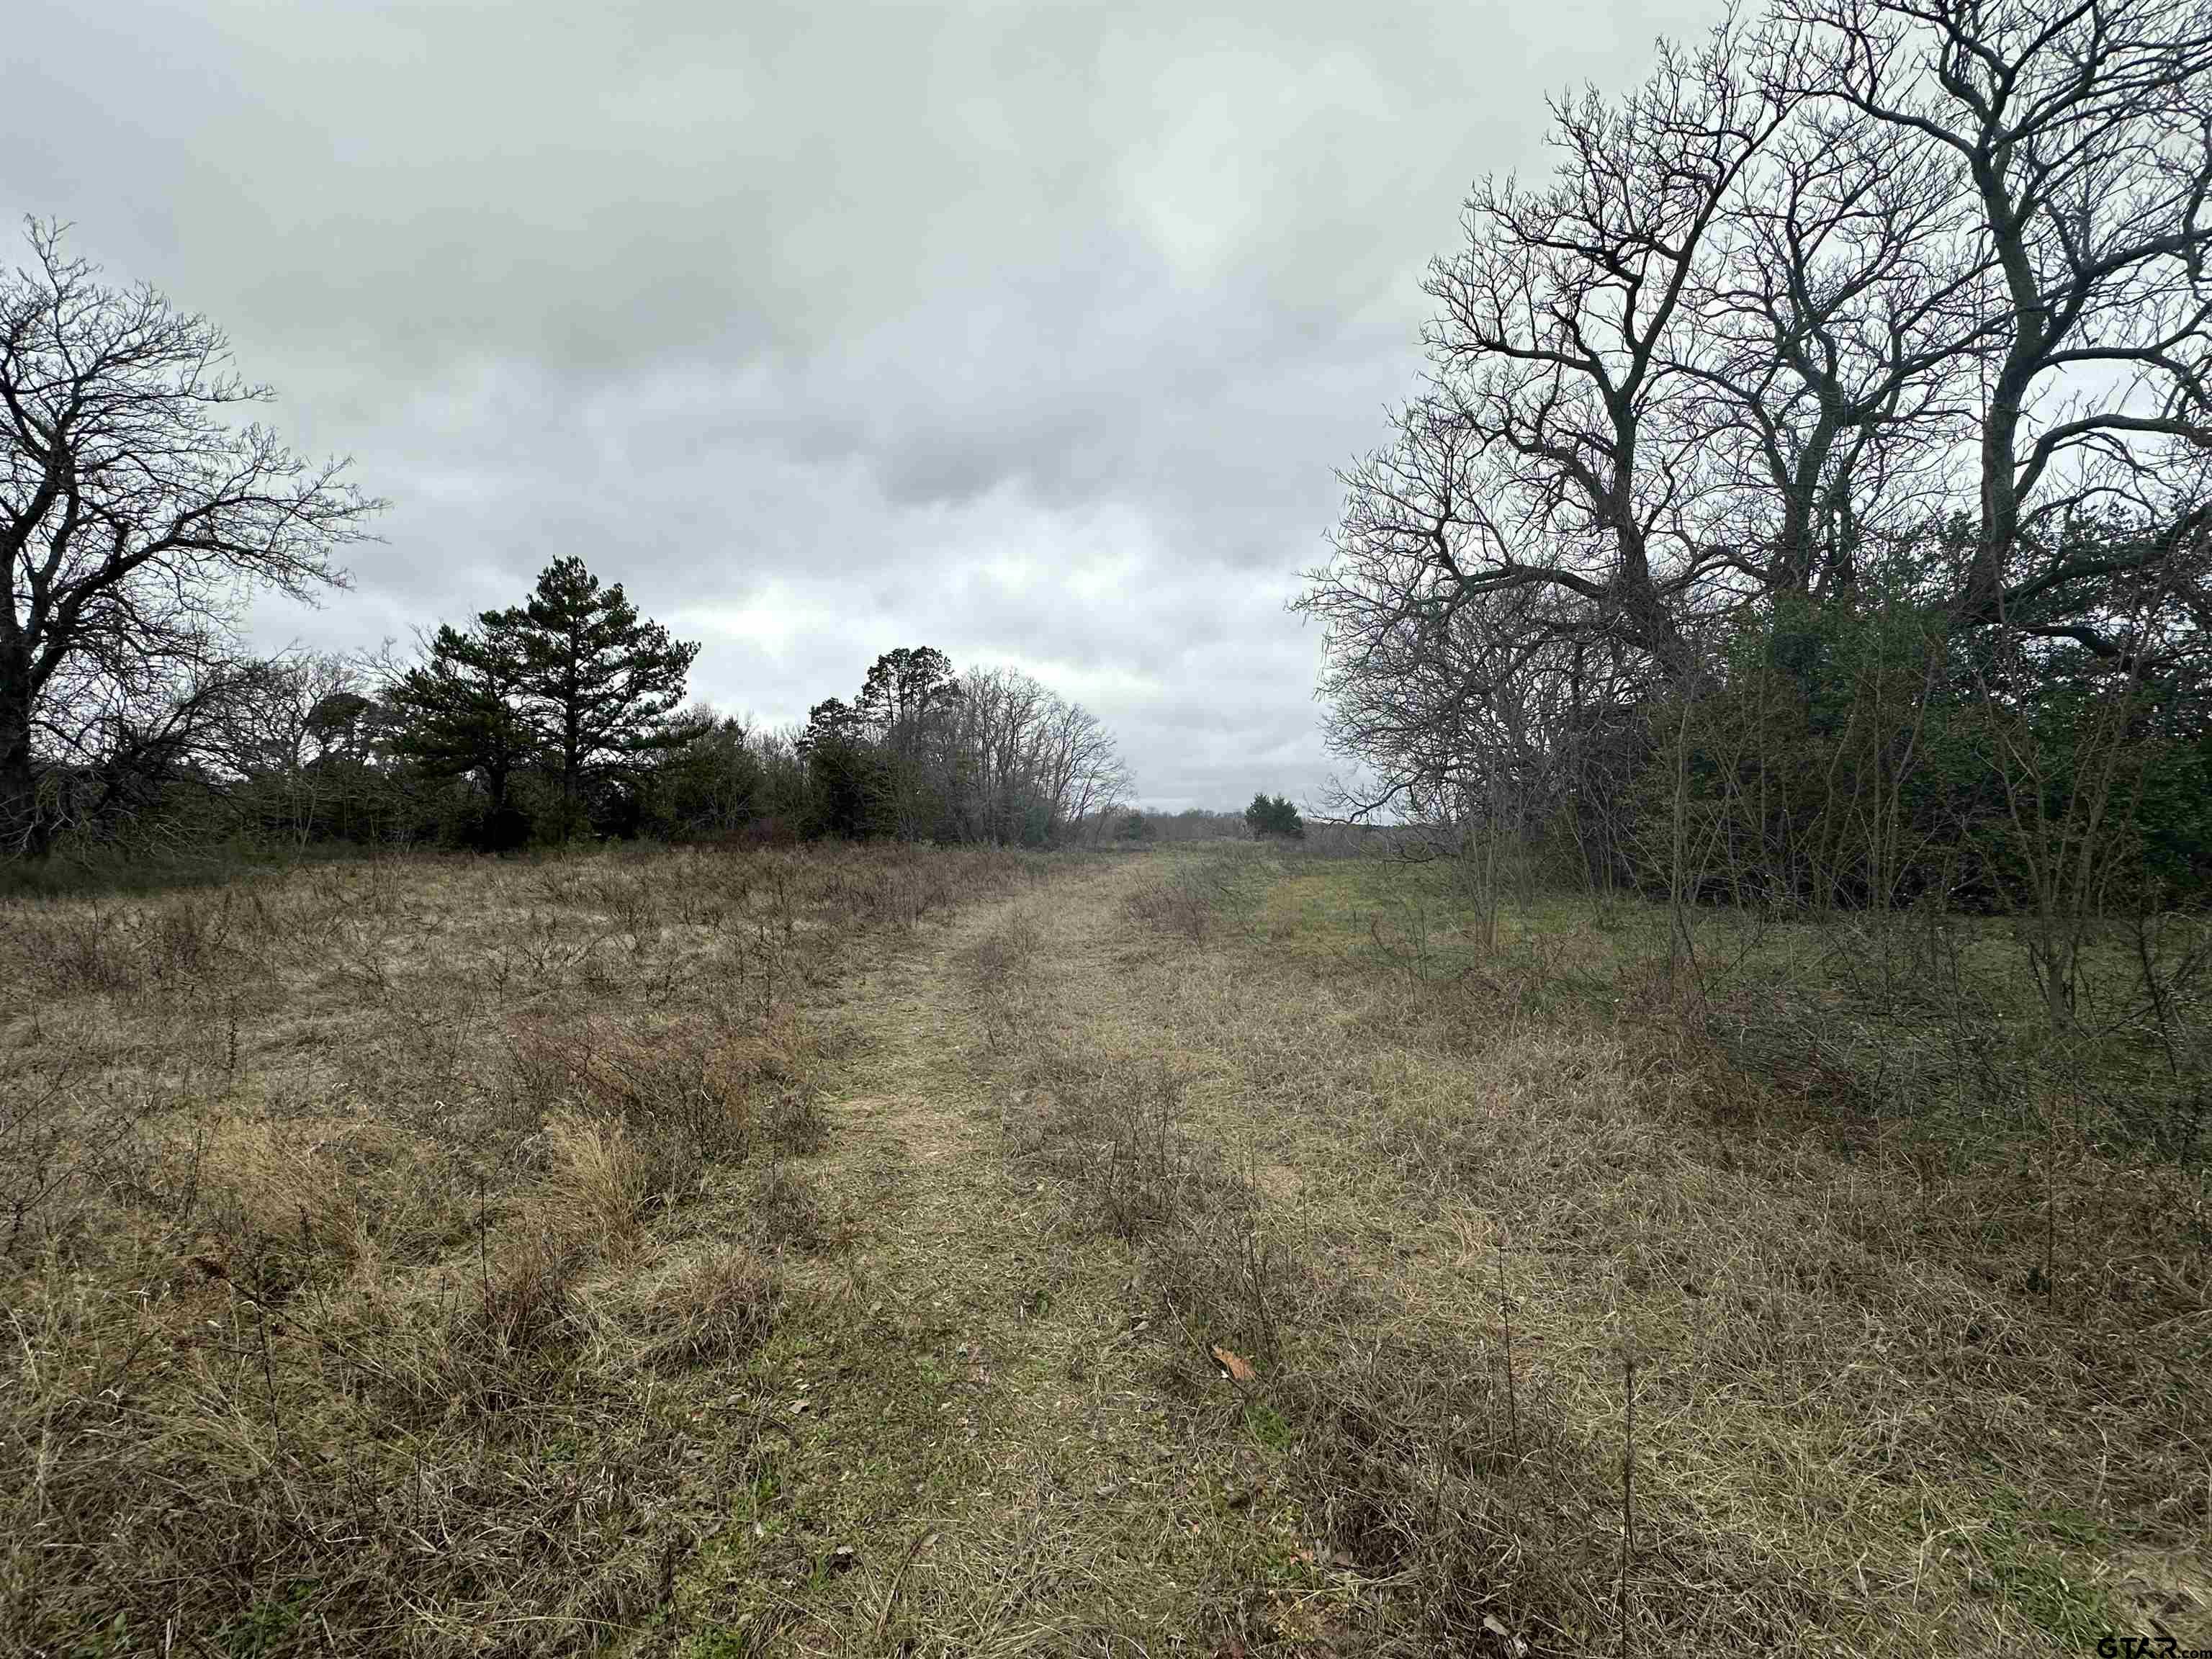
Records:
M580 557L363 657L254 657L241 602L343 588L385 502L237 416L208 319L31 221L0 276L0 856L111 845L905 836L1044 845L1128 796L1113 734L1011 668L885 653L761 730L686 703L697 641Z

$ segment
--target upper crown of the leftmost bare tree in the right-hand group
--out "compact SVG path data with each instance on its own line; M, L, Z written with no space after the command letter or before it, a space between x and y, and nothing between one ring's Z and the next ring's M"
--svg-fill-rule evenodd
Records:
M1431 392L1347 480L1340 538L1418 549L1447 606L1555 588L1577 626L1692 668L1683 611L1739 553L1703 533L1674 363L1699 354L1705 239L1783 122L1739 55L1723 24L1619 104L1553 104L1551 184L1475 190L1429 274Z

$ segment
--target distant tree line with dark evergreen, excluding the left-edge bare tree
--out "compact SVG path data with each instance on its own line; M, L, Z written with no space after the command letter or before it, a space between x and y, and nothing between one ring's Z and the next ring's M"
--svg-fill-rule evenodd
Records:
M232 695L128 825L135 843L442 845L602 836L1051 845L1108 834L1128 774L1084 708L931 648L772 730L686 706L697 641L639 617L582 560L414 653L241 664ZM900 706L907 692L927 692Z

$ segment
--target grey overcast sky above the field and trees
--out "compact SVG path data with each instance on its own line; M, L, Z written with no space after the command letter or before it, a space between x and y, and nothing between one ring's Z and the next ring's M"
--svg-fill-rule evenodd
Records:
M577 553L726 710L927 644L1097 710L1146 803L1239 805L1334 770L1283 602L1469 184L1714 13L11 0L0 206L392 500L268 648Z

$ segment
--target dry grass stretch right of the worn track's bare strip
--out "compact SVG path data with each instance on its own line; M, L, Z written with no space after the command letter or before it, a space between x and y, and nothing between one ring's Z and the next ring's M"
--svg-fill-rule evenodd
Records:
M1593 995L1544 960L1588 940L1453 962L1433 889L1360 927L1371 869L1203 856L1128 907L1177 945L1119 958L1110 1020L1040 1022L1004 1110L1141 1219L1175 1347L1276 1356L1363 1646L2212 1641L2201 1166L2079 1102L1781 1082L1632 953Z

